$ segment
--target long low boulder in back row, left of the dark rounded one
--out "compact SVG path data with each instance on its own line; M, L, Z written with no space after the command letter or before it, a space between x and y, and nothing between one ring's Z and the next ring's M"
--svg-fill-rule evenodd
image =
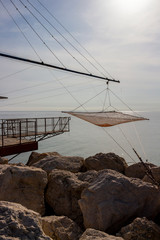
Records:
M54 169L76 173L81 171L83 164L84 159L82 157L50 156L34 163L33 166L42 168L47 173L50 173Z

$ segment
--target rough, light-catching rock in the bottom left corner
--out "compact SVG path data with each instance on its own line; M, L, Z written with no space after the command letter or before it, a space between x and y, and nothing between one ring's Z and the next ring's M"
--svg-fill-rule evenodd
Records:
M42 231L38 213L4 201L0 202L0 239L51 240Z

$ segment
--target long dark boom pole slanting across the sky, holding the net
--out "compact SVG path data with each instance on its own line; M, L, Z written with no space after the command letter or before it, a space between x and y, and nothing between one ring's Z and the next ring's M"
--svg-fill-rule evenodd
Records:
M71 72L71 73L75 73L75 74L79 74L79 75L83 75L83 76L87 76L87 77L99 78L99 79L103 79L105 81L107 80L107 81L110 81L110 82L120 83L119 80L109 79L109 78L106 78L106 77L101 77L101 76L98 76L98 75L89 74L89 73L85 73L85 72L79 72L79 71L76 71L76 70L63 68L63 67L58 67L58 66L55 66L55 65L52 65L52 64L48 64L48 63L44 63L44 62L38 62L38 61L35 61L35 60L31 60L31 59L27 59L27 58L21 58L21 57L17 57L17 56L5 54L5 53L0 53L0 57L6 57L6 58L18 60L18 61L23 61L23 62L27 62L27 63L40 65L40 66L43 66L43 67L45 66L45 67L49 67L49 68L55 68L55 69L58 69L58 70L61 70L61 71Z

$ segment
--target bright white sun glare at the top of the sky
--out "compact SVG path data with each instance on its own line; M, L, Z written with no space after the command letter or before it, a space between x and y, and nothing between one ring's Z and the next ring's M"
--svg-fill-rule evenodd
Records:
M128 14L139 12L148 5L150 0L119 0L119 10Z

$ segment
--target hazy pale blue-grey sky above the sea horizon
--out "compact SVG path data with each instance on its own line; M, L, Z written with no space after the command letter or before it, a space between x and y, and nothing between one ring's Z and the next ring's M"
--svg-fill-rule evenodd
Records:
M104 70L39 2L121 81L109 87L126 104L140 111L160 109L159 0L0 0L0 52L102 75ZM0 69L0 96L8 96L0 111L70 110L106 88L103 80L5 58L0 58ZM110 97L112 105L125 110ZM101 110L104 100L105 92L85 108Z

